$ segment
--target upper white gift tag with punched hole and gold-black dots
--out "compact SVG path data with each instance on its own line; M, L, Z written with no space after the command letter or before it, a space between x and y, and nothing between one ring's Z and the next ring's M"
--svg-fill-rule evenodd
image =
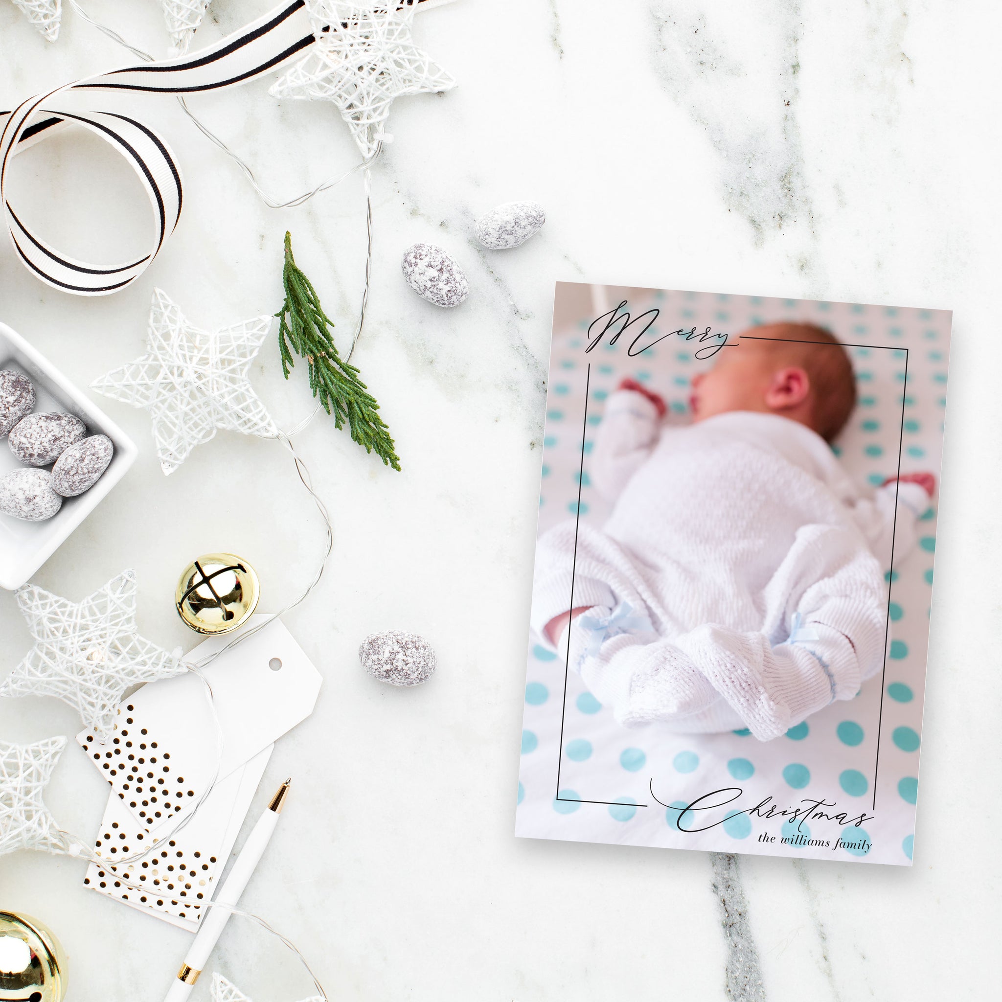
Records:
M252 616L250 623L261 616ZM246 627L244 627L246 628ZM198 660L233 637L210 637L188 654ZM205 686L188 673L150 682L118 708L114 731L99 744L89 731L80 745L101 771L136 823L156 835L172 828L198 803L212 781L230 776L263 748L306 719L322 678L281 620L237 644L203 669L212 688L222 733Z

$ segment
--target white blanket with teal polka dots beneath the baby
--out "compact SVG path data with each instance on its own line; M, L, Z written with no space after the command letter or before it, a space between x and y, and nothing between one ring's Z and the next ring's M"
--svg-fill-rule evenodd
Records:
M934 310L558 284L540 535L560 523L605 525L612 506L591 461L606 401L623 380L663 402L665 420L685 424L700 374L739 350L742 334L777 324L823 328L849 353L856 406L831 448L859 493L873 497L899 474L920 473L937 490L882 559L883 664L855 697L771 739L747 726L625 726L592 691L602 690L532 631L518 836L911 865L950 322ZM614 637L617 616L635 620L629 608L595 612L594 650Z

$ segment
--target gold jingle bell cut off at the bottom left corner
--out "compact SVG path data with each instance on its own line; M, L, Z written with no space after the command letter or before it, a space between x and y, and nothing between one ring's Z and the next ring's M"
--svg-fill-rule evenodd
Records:
M0 999L62 1002L66 957L59 940L37 919L0 912Z

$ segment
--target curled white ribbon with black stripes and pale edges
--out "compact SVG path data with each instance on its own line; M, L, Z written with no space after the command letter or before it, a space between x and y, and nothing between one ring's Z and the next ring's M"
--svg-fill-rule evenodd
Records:
M432 6L434 0L417 0L417 4ZM145 272L180 217L181 172L166 141L136 118L90 110L88 95L107 91L183 95L218 90L274 71L314 41L304 0L285 0L282 6L208 48L87 77L30 97L13 111L0 112L0 205L15 253L25 267L63 292L107 296ZM138 260L110 268L77 261L32 233L11 204L8 182L16 153L73 124L90 129L125 157L149 195L155 231L148 252Z

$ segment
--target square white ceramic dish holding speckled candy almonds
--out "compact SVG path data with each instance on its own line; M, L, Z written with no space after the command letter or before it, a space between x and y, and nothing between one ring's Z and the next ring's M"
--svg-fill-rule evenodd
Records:
M115 447L111 464L101 479L83 494L66 498L59 511L44 522L25 522L0 514L0 588L19 588L62 545L70 533L100 504L135 461L135 443L87 399L55 366L24 338L0 324L0 370L23 373L35 386L35 413L65 411L75 414L88 435L107 435ZM23 469L11 454L7 438L0 439L0 476Z

